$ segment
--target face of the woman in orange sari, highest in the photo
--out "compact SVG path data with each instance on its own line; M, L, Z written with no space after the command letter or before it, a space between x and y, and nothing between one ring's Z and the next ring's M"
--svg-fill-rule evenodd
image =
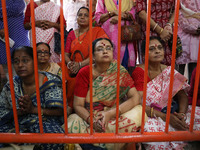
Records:
M77 15L79 26L89 26L89 12L87 9L81 9Z

